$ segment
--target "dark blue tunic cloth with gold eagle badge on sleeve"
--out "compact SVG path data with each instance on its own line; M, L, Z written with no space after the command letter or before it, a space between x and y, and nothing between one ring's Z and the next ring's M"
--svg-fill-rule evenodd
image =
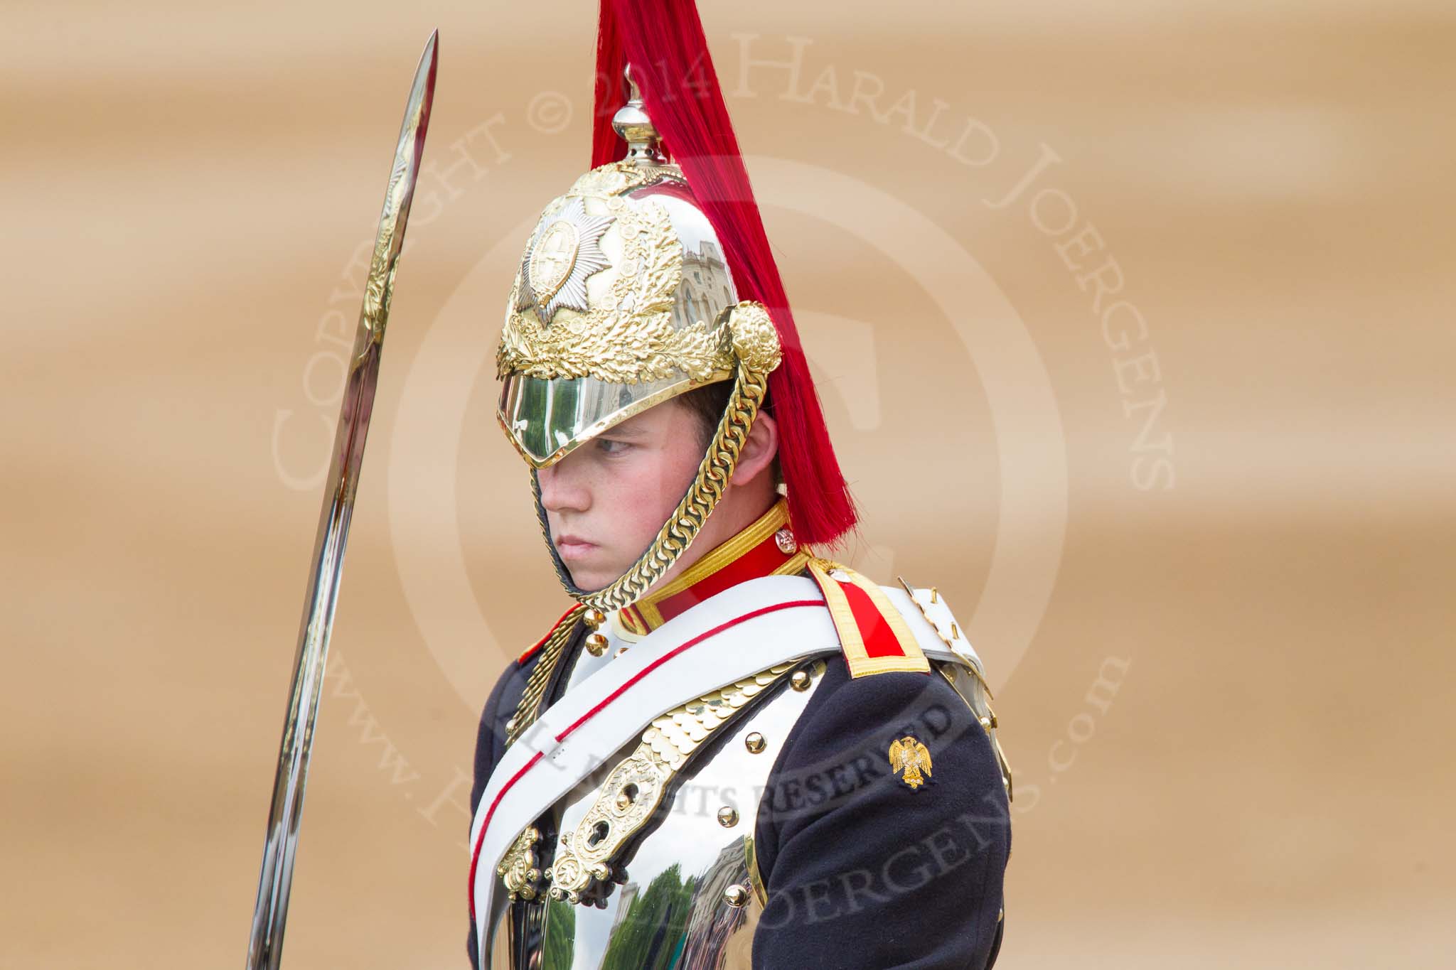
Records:
M561 669L579 649L577 636ZM537 659L513 662L485 704L472 814ZM906 736L933 765L916 787L890 766L891 743ZM994 964L1009 804L990 739L939 673L852 679L843 657L830 657L773 765L754 842L769 890L754 970ZM475 926L467 945L473 966Z

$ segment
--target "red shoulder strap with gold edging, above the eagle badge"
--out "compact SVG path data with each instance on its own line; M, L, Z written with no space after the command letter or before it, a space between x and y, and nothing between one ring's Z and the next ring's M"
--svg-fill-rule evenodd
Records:
M808 567L828 605L849 676L930 672L930 662L885 590L839 563L814 558Z

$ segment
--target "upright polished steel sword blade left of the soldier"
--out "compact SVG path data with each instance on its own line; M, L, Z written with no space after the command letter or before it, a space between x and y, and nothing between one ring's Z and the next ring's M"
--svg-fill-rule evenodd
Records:
M268 832L264 841L262 871L258 875L258 905L253 909L252 937L248 941L248 970L277 970L282 957L282 931L288 918L288 891L293 886L293 859L298 845L298 820L303 790L309 777L313 727L323 691L323 668L329 653L329 633L338 605L344 548L349 535L349 516L364 461L364 438L374 409L374 385L389 323L389 304L395 294L395 270L405 243L405 223L419 175L419 157L430 127L430 105L435 95L435 64L440 32L430 35L415 70L399 128L395 163L389 170L384 211L379 218L374 254L364 284L364 305L354 336L348 382L333 436L329 484L313 542L309 590L298 627L298 653L294 657L288 711L282 724L278 771L274 777Z

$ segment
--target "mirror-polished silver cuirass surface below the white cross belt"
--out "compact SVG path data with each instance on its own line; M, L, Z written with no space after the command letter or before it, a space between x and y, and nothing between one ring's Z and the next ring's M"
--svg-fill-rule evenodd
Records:
M514 902L494 921L492 970L750 970L764 905L753 830L783 742L818 689L823 662L780 679L699 747L644 830L613 859L613 877L581 903ZM804 688L804 689L799 689ZM600 795L629 745L543 819L543 868Z

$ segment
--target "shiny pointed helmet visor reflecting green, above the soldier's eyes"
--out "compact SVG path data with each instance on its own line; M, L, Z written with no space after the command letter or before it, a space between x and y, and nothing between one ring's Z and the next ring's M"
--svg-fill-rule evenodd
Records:
M715 375L722 380L729 374ZM513 374L501 388L501 423L521 454L545 468L613 425L696 387L687 377L614 384L594 377Z

